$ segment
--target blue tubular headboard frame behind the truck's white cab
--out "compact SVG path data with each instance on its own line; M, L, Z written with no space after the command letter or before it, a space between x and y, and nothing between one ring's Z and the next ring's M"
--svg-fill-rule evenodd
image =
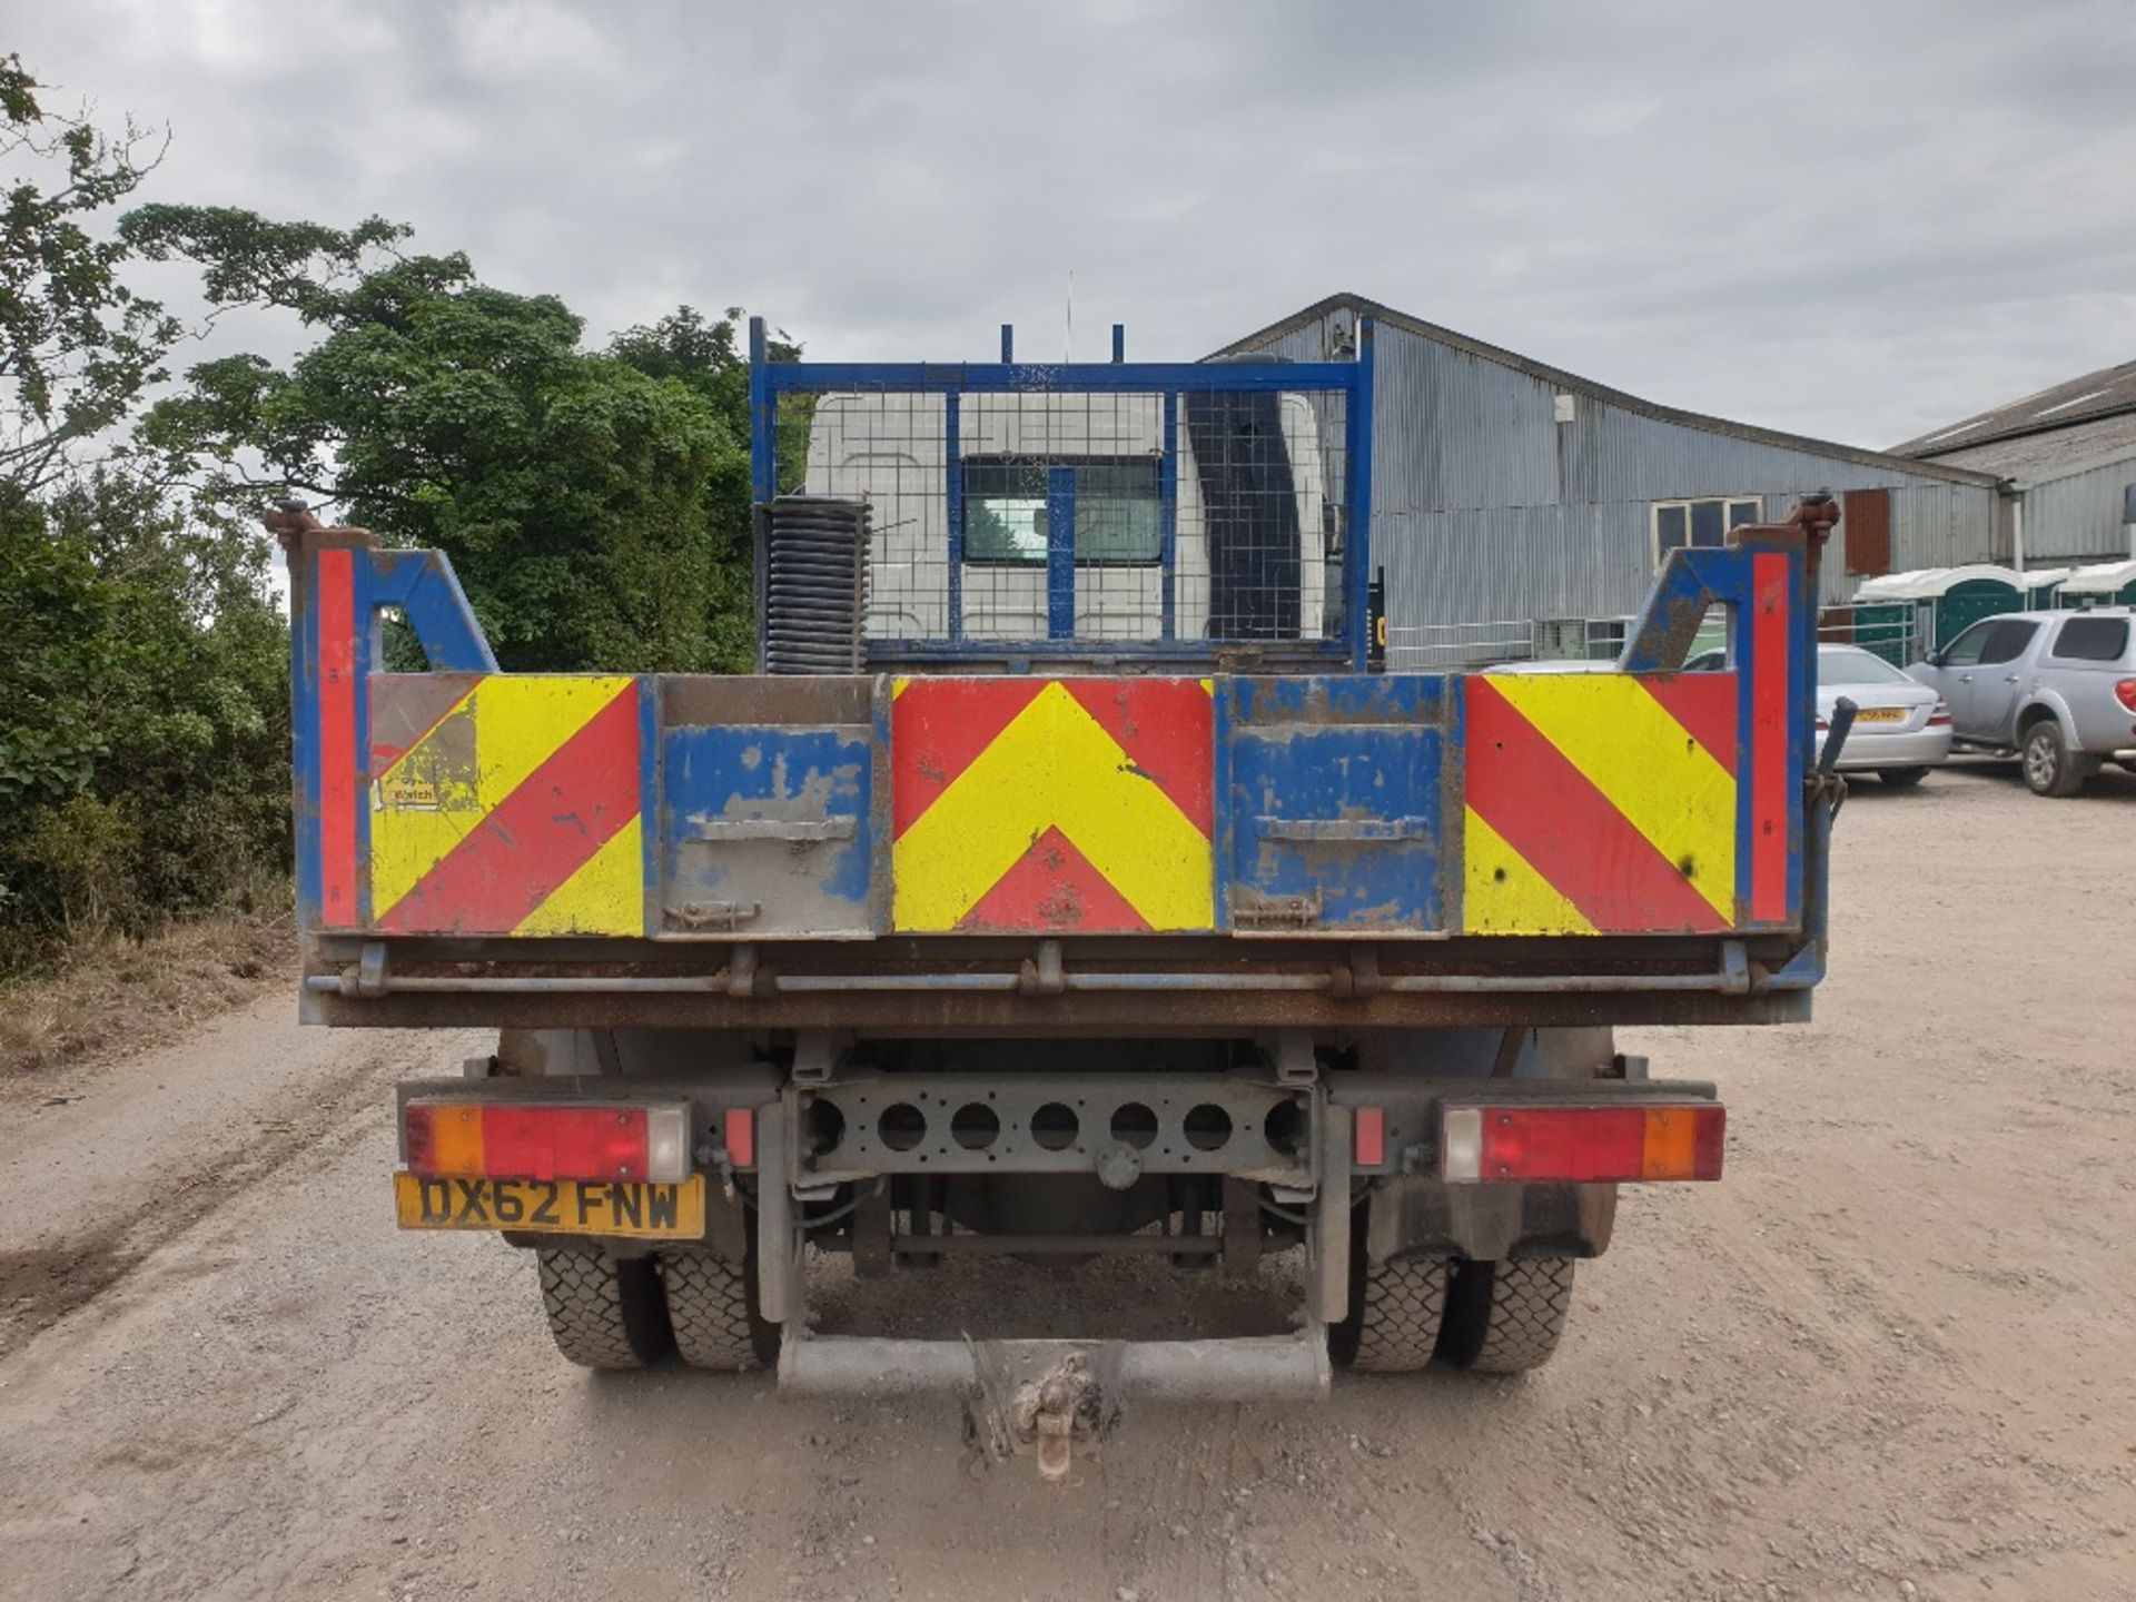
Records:
M948 617L946 632L933 641L871 641L869 656L882 662L925 662L929 658L1015 656L1017 647L1040 647L1047 656L1124 654L1158 658L1207 658L1222 641L1181 641L1177 630L1177 549L1179 549L1179 395L1245 391L1245 393L1337 393L1344 397L1344 521L1341 521L1341 637L1297 641L1303 654L1348 662L1367 671L1369 585L1371 585L1371 412L1373 412L1373 325L1358 323L1354 361L1282 361L1282 363L1205 363L1205 361L1126 361L1126 329L1115 325L1113 359L1104 363L1019 363L1015 331L1002 325L1002 361L993 363L857 363L857 361L782 361L771 363L763 318L750 318L750 487L758 504L778 496L778 404L780 395L827 393L837 389L904 391L944 397L944 476L948 506ZM1068 551L1066 577L1057 540L1047 547L1047 639L1045 641L970 641L963 630L963 395L1030 395L1030 393L1145 393L1162 397L1164 449L1160 466L1162 532L1160 585L1162 617L1156 641L1126 645L1124 641L1074 639L1074 557ZM1070 508L1072 508L1072 489ZM1055 498L1049 485L1049 504ZM1049 513L1051 517L1051 513ZM1072 530L1072 523L1068 523ZM1066 598L1066 604L1064 604ZM1066 615L1066 626L1064 626Z

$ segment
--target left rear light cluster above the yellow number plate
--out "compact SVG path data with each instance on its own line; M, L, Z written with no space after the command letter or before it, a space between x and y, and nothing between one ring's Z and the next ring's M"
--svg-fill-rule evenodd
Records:
M690 1177L690 1109L419 1100L402 1117L425 1179Z

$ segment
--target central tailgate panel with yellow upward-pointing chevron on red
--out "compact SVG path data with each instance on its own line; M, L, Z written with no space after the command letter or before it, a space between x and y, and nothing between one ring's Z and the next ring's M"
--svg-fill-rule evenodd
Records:
M1209 929L1211 786L1205 679L901 679L891 923Z

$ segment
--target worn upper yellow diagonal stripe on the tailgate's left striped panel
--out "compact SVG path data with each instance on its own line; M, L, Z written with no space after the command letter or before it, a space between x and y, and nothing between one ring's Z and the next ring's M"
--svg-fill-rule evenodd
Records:
M500 673L461 696L372 786L374 916L384 916L491 807L632 684L628 677Z

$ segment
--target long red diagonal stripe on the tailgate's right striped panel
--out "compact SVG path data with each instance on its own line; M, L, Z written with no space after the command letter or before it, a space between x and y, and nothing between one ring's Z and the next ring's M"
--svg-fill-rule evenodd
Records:
M1489 679L1467 686L1467 805L1613 933L1724 929L1722 914Z

